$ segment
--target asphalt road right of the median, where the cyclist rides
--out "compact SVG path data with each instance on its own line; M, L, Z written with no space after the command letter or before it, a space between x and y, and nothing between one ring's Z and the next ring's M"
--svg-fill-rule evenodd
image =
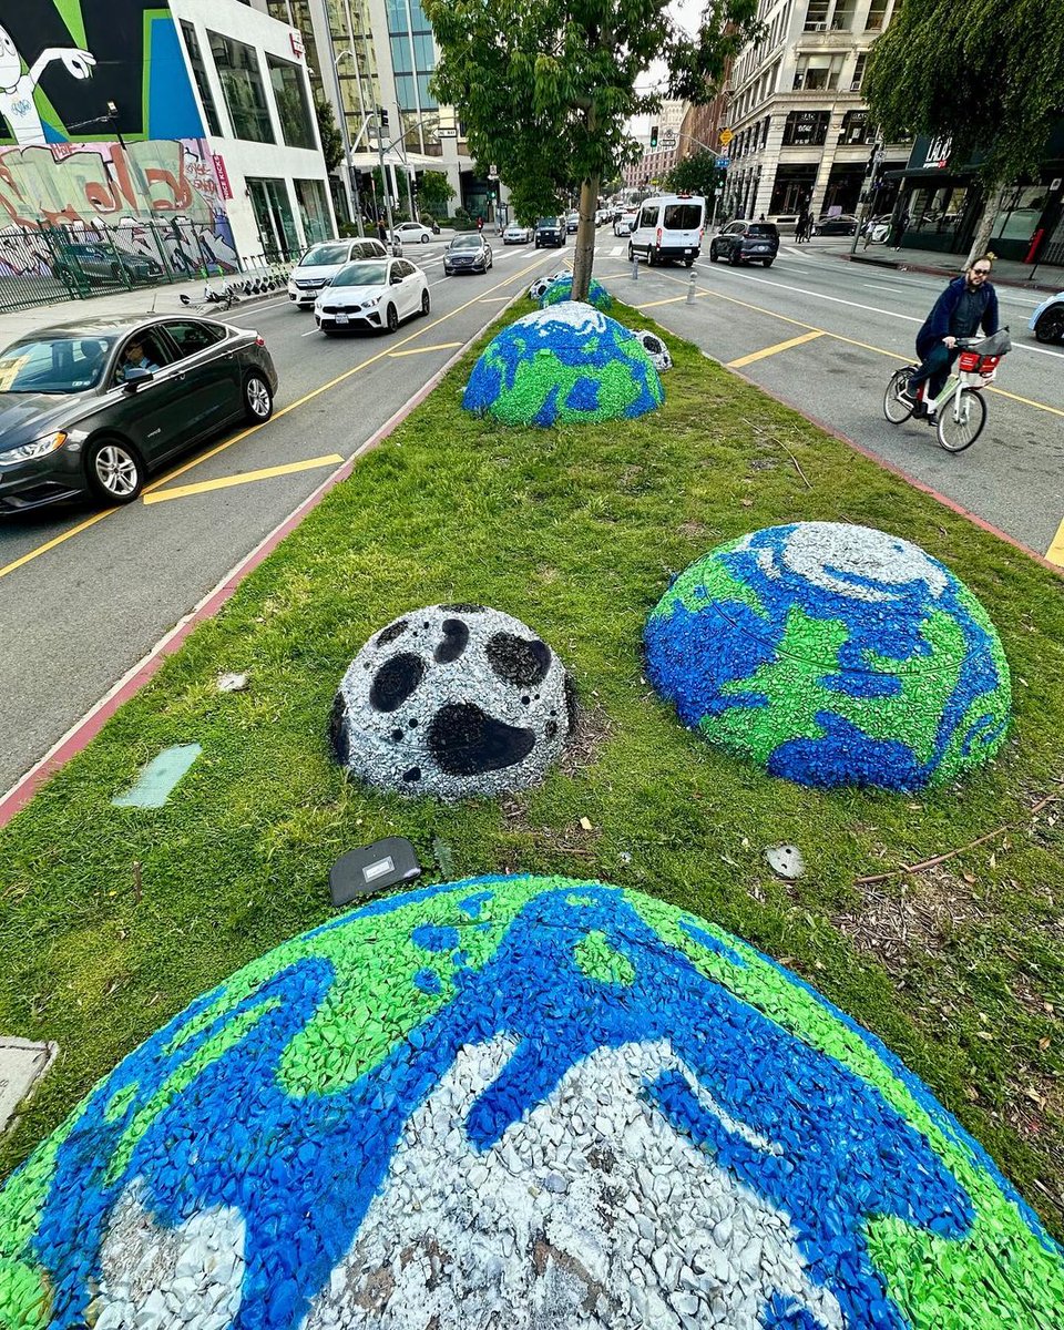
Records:
M987 394L987 427L951 455L919 420L891 426L883 390L915 358L914 340L946 278L850 263L817 242L785 241L773 267L694 266L686 303L681 266L640 266L636 282L620 241L601 246L596 275L662 327L734 366L876 456L902 467L1039 553L1064 519L1064 348L1027 330L1037 293L999 286L1013 350ZM1064 540L1051 555L1064 564Z

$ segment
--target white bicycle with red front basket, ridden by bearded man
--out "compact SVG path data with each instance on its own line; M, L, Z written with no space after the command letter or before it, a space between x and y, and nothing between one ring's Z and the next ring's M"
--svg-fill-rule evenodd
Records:
M891 424L903 424L919 404L927 404L928 418L935 416L939 446L947 452L964 452L987 423L982 391L998 378L998 366L1012 350L1012 339L1008 329L1001 329L988 338L958 338L955 348L960 352L956 368L950 368L946 386L932 403L927 403L927 382L920 384L915 400L904 391L918 364L895 370L883 394L883 415Z

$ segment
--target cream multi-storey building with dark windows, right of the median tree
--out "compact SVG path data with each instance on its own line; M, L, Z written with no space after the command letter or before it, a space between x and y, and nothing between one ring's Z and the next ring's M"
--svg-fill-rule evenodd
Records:
M733 215L855 213L875 145L861 88L868 51L896 0L761 0L765 37L738 56L728 85L734 137L725 188ZM899 170L907 145L886 145ZM896 185L882 189L888 211Z

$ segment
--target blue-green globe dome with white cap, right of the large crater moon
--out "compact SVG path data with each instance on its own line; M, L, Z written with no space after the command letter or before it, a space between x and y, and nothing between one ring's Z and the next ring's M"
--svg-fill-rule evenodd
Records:
M899 536L769 527L677 577L645 629L680 720L802 785L915 790L986 762L1011 682L972 592Z

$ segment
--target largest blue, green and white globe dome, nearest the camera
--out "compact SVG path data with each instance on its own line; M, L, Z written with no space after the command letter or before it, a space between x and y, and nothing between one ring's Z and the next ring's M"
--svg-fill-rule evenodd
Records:
M0 1323L1059 1330L1064 1252L781 966L483 878L283 943L101 1080L0 1192Z

